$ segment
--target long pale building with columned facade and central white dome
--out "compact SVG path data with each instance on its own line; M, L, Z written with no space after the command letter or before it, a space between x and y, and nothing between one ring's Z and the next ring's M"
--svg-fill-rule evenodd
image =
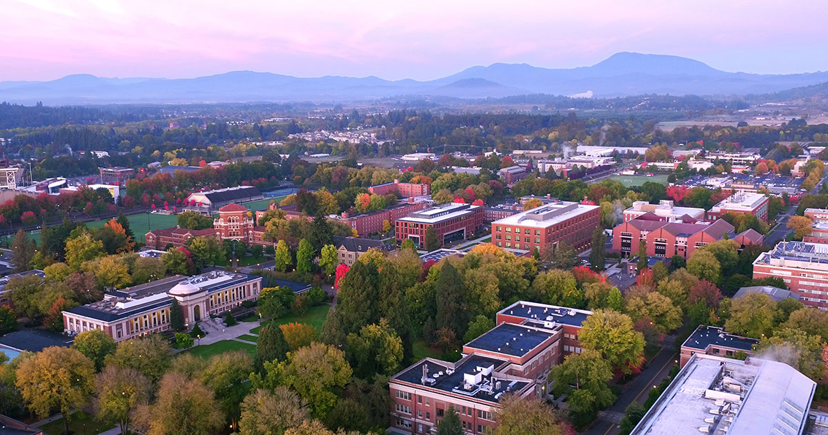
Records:
M190 326L244 301L255 301L261 291L262 277L246 273L176 275L108 292L103 301L65 310L64 329L73 335L99 329L114 341L124 341L170 329L173 299L181 306L185 325Z

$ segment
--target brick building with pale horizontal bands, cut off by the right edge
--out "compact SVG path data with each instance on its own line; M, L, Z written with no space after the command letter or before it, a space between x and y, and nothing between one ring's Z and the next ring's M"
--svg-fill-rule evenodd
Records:
M828 245L779 242L753 260L753 278L782 278L806 306L828 310Z

